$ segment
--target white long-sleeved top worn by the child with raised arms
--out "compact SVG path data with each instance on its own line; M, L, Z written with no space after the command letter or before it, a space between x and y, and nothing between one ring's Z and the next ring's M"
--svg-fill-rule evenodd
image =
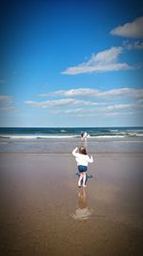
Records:
M72 155L75 156L77 165L88 166L88 163L93 162L92 156L90 157L88 154L82 154L82 153L76 152L77 150L78 150L78 148L75 148L72 151Z

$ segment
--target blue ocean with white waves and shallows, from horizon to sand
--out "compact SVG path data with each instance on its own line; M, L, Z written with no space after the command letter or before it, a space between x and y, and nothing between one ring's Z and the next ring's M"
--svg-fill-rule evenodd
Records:
M143 128L0 128L0 152L71 152L83 145L81 131L90 135L92 152L142 152Z

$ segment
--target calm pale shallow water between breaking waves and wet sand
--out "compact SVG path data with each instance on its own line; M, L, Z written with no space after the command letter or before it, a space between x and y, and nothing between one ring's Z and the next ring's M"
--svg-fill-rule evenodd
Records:
M72 139L0 139L0 152L54 152L68 153L75 147L85 146L93 152L143 152L143 139L89 139L82 142L80 138Z

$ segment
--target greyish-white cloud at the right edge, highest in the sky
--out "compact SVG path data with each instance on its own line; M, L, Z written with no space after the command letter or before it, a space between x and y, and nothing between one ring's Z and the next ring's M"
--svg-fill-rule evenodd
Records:
M143 37L143 16L136 18L131 23L118 26L111 31L112 35L119 35L131 38Z

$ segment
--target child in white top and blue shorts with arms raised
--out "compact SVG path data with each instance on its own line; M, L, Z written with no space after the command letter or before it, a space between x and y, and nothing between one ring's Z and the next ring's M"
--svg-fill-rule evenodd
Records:
M77 151L78 150L78 151ZM78 187L81 187L81 180L83 179L83 187L86 187L86 172L88 171L88 164L93 162L92 156L90 157L87 154L86 148L80 147L75 148L72 151L72 155L75 156L75 160L77 162L78 171L80 173L78 179Z

